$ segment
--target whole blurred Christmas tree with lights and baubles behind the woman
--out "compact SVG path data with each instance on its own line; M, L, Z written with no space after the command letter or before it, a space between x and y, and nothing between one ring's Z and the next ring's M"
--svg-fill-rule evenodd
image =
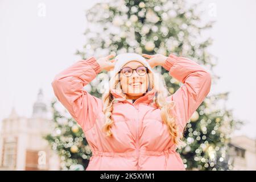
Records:
M202 32L212 27L214 22L201 25L198 7L197 4L188 6L183 0L115 0L97 3L86 13L86 43L76 53L82 59L106 56L113 52L149 55L160 53L165 56L174 53L195 60L208 69L214 86L219 77L212 69L216 65L217 57L208 51L212 39L199 40ZM166 69L156 67L155 71L163 75L171 94L182 85L170 77ZM103 71L85 89L100 98L109 77L109 73ZM232 110L217 106L218 102L227 98L228 93L208 95L188 121L184 131L184 144L178 150L187 169L232 169L228 160L229 137L241 122L233 119ZM61 116L54 109L54 105L53 110L56 121ZM66 168L72 164L86 167L85 160L90 158L86 139L72 118L65 119L68 124L60 126L56 122L56 129L61 130L61 134L57 137L49 134L47 139L53 150L57 150L67 164Z

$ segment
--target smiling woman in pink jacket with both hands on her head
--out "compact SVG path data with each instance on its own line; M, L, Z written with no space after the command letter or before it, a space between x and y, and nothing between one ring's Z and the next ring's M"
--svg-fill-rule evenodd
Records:
M176 149L186 123L209 93L210 74L174 54L113 57L77 61L52 82L92 150L86 170L185 170ZM158 65L183 83L171 96L152 69ZM83 88L102 70L113 70L113 76L101 100Z

